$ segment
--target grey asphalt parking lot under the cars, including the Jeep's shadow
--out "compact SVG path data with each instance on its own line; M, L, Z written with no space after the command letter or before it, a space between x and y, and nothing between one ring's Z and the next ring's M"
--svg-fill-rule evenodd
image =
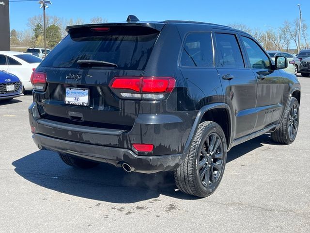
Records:
M0 102L0 232L310 232L310 78L295 142L270 135L233 148L210 197L187 196L172 173L66 166L31 139L31 95Z

